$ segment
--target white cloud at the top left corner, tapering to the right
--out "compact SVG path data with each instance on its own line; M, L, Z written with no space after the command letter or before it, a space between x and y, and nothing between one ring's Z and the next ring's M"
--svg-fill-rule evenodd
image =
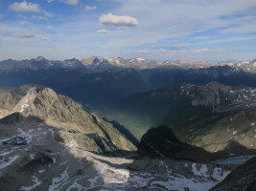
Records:
M42 10L38 4L28 3L27 1L23 2L14 2L9 7L9 10L11 11L28 11L28 12L42 12L47 16L50 16L51 13Z

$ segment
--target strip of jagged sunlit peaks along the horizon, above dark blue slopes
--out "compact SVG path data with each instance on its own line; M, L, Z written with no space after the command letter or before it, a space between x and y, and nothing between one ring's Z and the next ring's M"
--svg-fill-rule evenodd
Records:
M199 60L185 60L185 61L154 61L145 58L103 58L100 56L90 56L84 59L67 59L64 61L48 60L42 56L27 60L4 60L0 62L0 70L22 70L22 69L48 69L48 68L93 68L99 66L108 67L122 67L133 68L138 70L153 69L153 68L182 68L182 69L201 69L217 66L230 66L242 69L245 72L256 72L256 60L242 61L242 62L207 62Z

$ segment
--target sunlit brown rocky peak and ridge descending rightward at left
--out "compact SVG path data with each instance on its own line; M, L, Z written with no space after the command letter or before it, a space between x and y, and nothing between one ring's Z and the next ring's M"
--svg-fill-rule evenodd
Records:
M13 99L3 122L43 121L59 129L58 138L62 141L75 141L90 151L135 150L135 146L110 123L84 111L80 104L50 88L35 86L27 91L26 96L12 96L19 100Z

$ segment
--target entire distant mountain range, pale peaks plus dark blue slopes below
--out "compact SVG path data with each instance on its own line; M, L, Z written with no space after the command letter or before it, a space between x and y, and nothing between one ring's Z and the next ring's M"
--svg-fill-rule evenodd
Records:
M55 61L39 56L29 60L1 61L0 86L45 85L95 110L134 93L177 83L218 81L225 85L256 86L255 65L255 60L219 64L91 56L82 60Z

